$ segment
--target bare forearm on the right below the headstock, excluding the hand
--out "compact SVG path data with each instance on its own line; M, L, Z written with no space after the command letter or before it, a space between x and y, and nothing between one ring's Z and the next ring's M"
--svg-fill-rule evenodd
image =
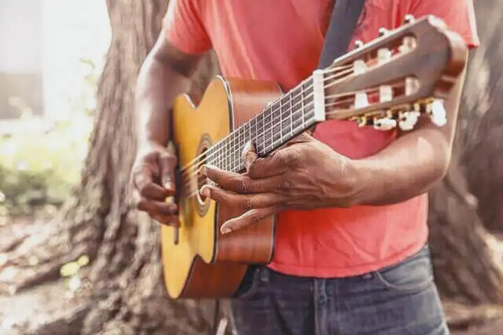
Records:
M466 71L466 70L465 70ZM376 155L353 161L358 180L353 204L386 205L411 199L442 179L451 160L465 71L445 101L447 124L421 118L416 128Z

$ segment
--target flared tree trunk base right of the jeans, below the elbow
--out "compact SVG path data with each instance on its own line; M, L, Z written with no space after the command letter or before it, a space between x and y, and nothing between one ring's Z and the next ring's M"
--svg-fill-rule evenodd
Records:
M442 297L502 304L502 255L481 223L456 155L446 178L430 192L429 224L435 281Z

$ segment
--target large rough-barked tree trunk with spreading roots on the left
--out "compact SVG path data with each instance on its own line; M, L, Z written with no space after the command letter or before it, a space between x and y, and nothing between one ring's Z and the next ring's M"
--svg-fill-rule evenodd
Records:
M88 302L73 323L81 334L209 334L216 301L170 301L161 272L159 226L135 211L128 194L136 155L133 97L138 71L153 47L165 0L107 1L112 42L98 92L98 107L82 181L47 231L43 243L25 241L12 262L26 266L10 292L57 278L61 265L87 255L82 279ZM209 55L192 93L201 94L217 74ZM54 237L56 236L56 237ZM40 241L40 236L36 236ZM29 255L38 255L37 266ZM30 264L31 263L31 264ZM49 332L46 328L41 332ZM73 329L74 331L74 329ZM60 334L60 333L58 333Z

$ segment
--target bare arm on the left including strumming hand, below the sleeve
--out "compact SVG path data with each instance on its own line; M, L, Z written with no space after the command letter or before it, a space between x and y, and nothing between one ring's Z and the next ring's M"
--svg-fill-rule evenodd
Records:
M131 171L131 186L137 208L163 224L178 223L177 206L165 201L175 192L176 157L166 149L170 138L169 110L175 97L187 90L200 58L177 50L161 32L138 74L138 153Z

